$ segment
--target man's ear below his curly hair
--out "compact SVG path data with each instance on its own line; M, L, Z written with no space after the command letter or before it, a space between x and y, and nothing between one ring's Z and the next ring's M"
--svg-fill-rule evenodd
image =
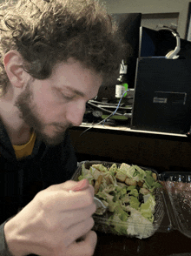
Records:
M22 88L26 72L23 70L23 57L20 53L15 50L8 51L3 58L3 64L10 84Z

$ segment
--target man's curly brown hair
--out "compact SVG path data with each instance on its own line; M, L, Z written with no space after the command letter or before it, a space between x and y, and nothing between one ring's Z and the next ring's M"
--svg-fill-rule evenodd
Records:
M3 56L23 57L32 77L45 79L54 65L74 57L85 67L112 77L125 51L122 37L105 7L96 0L7 0L0 5L0 86L9 79Z

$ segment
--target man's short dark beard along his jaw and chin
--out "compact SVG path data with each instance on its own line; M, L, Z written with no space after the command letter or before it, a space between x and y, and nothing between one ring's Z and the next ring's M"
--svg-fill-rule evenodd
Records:
M49 125L53 125L56 128L54 135L50 136L44 132L45 128L49 125L44 125L42 118L37 112L36 104L32 104L33 94L30 90L30 82L27 84L25 91L23 91L16 99L16 107L20 111L20 118L23 119L26 125L29 125L36 133L36 137L43 140L46 145L58 145L64 137L65 131L72 127L72 125L53 122Z

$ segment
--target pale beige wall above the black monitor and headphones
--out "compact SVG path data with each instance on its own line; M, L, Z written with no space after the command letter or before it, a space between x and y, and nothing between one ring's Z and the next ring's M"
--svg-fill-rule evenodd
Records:
M151 13L179 13L178 32L181 38L186 36L188 19L188 3L190 0L100 0L105 3L109 13L142 12Z

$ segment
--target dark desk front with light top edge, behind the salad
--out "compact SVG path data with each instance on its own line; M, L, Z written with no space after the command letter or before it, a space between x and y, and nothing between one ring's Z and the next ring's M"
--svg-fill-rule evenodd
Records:
M70 129L78 161L103 160L154 168L191 171L191 143L184 134L136 131L128 127L82 124ZM82 136L81 136L82 134Z

